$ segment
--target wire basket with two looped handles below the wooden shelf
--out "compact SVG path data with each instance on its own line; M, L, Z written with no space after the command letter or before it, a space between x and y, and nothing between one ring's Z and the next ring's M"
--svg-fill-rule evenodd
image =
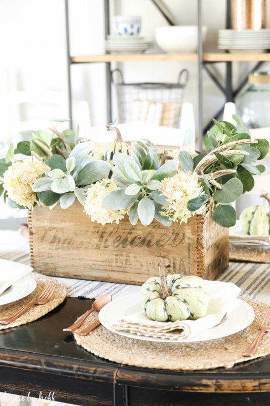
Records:
M121 79L119 83L113 79L116 73ZM120 69L111 71L117 93L118 121L177 128L187 80L186 69L180 71L176 83L125 83Z

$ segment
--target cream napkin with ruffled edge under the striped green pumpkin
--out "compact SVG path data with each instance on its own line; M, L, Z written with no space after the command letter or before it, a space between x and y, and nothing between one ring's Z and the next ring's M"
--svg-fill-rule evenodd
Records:
M197 320L159 322L149 320L144 311L116 319L114 331L124 331L161 340L184 341L218 325L241 289L230 282L206 281L210 303L205 317Z

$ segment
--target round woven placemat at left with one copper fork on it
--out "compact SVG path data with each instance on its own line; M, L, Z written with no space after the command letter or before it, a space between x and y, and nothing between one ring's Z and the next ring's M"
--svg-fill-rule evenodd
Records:
M51 310L55 309L60 303L65 300L66 297L66 288L65 285L62 283L54 280L45 275L32 273L31 276L36 281L36 288L35 290L24 297L23 299L16 300L9 304L4 304L1 306L1 319L5 319L6 317L11 316L13 313L17 312L24 304L29 303L32 300L37 299L37 297L42 293L45 287L50 282L56 283L56 289L54 291L53 297L51 300L46 304L37 304L36 306L30 307L26 313L22 314L18 319L13 321L10 324L0 324L0 330L4 328L16 327L20 326L21 324L30 323L31 321L37 320L42 316L46 315L47 313L51 312Z

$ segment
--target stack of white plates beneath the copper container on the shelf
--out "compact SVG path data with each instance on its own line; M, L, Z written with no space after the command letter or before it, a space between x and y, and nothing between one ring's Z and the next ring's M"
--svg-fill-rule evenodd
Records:
M243 31L219 29L218 49L229 52L266 52L270 49L270 28L258 31L253 29Z

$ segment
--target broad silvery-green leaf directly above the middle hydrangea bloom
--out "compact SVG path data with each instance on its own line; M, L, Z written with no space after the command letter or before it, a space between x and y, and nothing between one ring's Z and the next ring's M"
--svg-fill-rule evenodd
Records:
M106 161L91 161L83 167L79 172L76 179L76 184L80 185L91 185L92 183L100 180L110 171L110 164Z

